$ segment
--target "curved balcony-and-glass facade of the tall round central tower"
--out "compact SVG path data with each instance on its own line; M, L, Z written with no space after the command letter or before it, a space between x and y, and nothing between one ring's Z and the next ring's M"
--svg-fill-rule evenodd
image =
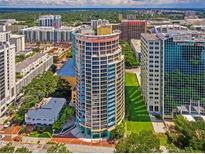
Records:
M119 35L74 33L76 118L87 137L109 137L124 118L124 56Z

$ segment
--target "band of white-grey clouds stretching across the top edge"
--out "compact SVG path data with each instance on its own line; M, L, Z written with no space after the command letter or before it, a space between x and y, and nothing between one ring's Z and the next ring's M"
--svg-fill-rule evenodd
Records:
M163 5L205 5L204 0L0 0L0 6L124 6L124 7L152 7Z

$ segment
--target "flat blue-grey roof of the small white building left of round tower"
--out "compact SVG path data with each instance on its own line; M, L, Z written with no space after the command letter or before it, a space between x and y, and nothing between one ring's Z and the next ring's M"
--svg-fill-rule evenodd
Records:
M55 119L62 110L66 103L65 98L51 97L43 100L45 104L42 106L30 109L27 113L27 117L35 119ZM43 103L44 103L43 102Z

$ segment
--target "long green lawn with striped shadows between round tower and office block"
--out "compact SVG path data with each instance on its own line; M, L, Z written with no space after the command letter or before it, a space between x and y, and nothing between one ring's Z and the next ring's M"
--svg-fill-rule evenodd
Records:
M126 72L125 80L127 133L153 131L136 75Z

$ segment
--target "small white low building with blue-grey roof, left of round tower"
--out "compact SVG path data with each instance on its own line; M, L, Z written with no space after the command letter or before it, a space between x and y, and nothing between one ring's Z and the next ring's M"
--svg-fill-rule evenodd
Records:
M53 125L66 103L65 98L46 98L25 115L26 124Z

